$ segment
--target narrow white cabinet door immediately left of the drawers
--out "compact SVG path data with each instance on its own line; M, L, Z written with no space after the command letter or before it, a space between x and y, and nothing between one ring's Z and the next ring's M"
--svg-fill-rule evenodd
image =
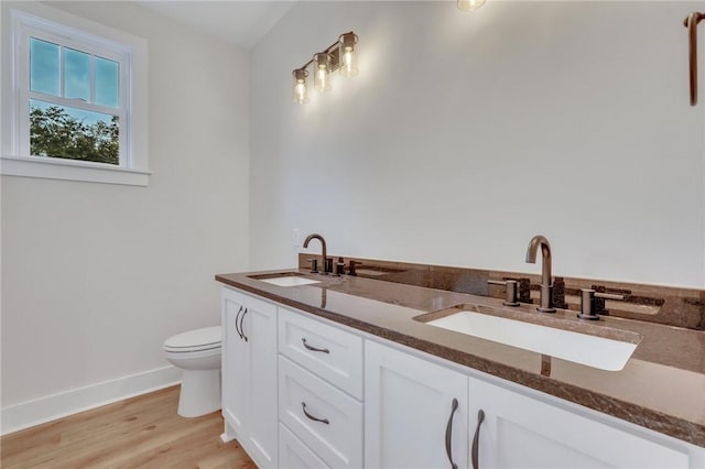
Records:
M246 297L240 331L246 339L248 373L236 377L247 386L247 441L240 441L261 468L278 465L276 306Z

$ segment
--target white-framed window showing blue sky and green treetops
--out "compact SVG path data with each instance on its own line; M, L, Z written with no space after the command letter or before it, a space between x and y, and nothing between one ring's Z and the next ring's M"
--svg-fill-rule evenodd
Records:
M124 165L120 123L127 121L121 102L127 89L120 69L127 67L127 56L106 58L85 52L85 45L69 48L54 37L29 33L29 92L20 89L21 106L29 95L29 119L21 121L21 144L29 141L33 156ZM21 83L26 81L23 77Z

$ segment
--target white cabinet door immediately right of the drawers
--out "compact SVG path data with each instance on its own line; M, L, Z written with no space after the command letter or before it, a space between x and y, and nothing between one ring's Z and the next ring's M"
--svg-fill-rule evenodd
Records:
M467 468L467 375L366 340L365 378L366 467Z

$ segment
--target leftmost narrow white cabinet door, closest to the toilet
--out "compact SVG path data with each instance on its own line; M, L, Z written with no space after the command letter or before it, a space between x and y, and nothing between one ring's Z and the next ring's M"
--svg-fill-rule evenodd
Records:
M224 439L242 438L245 435L248 403L247 375L249 374L248 348L238 332L245 312L245 296L224 287L223 299L223 416L226 422ZM235 432L235 435L230 434Z

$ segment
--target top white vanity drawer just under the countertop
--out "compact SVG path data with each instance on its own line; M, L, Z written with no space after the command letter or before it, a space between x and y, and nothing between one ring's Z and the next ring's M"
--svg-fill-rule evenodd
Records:
M279 352L362 400L362 338L279 308Z

